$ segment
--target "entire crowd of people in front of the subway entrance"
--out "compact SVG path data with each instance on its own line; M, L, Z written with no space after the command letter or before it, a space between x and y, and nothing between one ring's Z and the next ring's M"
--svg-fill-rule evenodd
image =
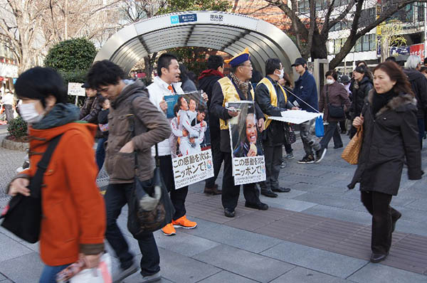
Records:
M225 63L231 67L227 75ZM139 269L141 282L161 278L153 233L134 235L142 253L137 265L117 226L117 218L123 206L130 203L135 178L150 186L156 156L174 206L172 222L162 228L162 233L172 236L176 235L176 228L197 227L196 222L186 217L188 186L175 187L169 142L172 129L165 100L168 95L197 90L196 85L203 90L202 99L208 106L204 114L208 114L214 163L214 176L206 179L204 193L221 194L223 212L228 218L236 215L241 186L234 183L228 124L238 116L238 111L226 107L227 102L251 101L254 105L251 117L255 117L254 127L263 143L266 180L258 184L260 191L256 183L243 184L243 196L246 207L258 210L268 209L260 201L260 193L277 198L278 193L291 190L280 186L279 176L280 169L294 158L292 125L271 117L294 110L323 113L326 128L320 140L313 133L314 119L300 124L304 148L297 161L300 164L319 163L327 158L331 139L334 149L340 149L344 146L341 134L347 128L352 138L363 127L359 163L349 188L360 183L362 203L372 215L371 262L384 260L396 221L401 217L390 202L399 191L404 164L410 179L417 180L423 174L421 148L427 78L421 73L421 60L410 56L404 69L387 60L377 65L373 73L366 63L360 62L352 78L338 78L335 70L329 70L320 95L307 61L297 58L292 67L299 75L295 82L284 73L283 62L278 58L266 60L263 77L260 72L254 76L248 49L228 60L211 55L207 69L195 84L186 66L179 64L179 58L163 53L157 60L157 76L146 87L141 80L127 80L120 66L102 60L93 64L87 82L82 85L87 98L81 110L67 103L63 80L55 71L37 67L22 73L15 91L22 101L21 116L30 124L30 167L11 181L9 194L29 195L27 186L36 173L41 154L53 139L60 139L58 154L53 154L52 159L55 168L46 174L43 188L40 245L46 266L41 282L55 282L56 273L79 257L83 257L86 267L97 266L104 250L104 237L120 261L113 282L122 282ZM43 85L38 83L41 78ZM88 123L76 123L77 120ZM93 153L95 137L97 150ZM220 188L216 178L222 164ZM110 181L102 200L95 180L104 165Z

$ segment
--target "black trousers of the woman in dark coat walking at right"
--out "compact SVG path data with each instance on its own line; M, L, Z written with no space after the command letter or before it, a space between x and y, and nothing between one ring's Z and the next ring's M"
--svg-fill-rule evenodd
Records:
M387 255L391 247L391 223L399 211L390 206L391 195L374 191L361 191L362 203L372 215L371 250Z

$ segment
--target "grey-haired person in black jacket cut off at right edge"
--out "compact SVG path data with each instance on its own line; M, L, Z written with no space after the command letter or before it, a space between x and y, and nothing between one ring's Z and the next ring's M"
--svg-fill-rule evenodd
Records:
M408 76L409 82L411 82L411 89L416 97L416 106L418 111L416 112L416 118L418 119L418 139L423 148L423 137L424 137L424 114L427 108L427 79L418 70L421 68L421 58L417 55L411 55L408 57L405 63L404 73Z

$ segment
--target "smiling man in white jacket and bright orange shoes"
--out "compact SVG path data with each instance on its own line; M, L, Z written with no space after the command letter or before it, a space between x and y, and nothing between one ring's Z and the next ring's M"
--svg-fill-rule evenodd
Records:
M159 76L154 78L154 82L149 85L147 89L149 92L149 100L164 113L167 112L167 103L164 100L164 96L184 93L181 89L181 82L179 82L180 73L178 59L174 55L164 53L159 57L159 60L157 60L157 74ZM162 232L164 235L172 236L176 234L175 228L193 229L196 228L197 223L186 218L185 199L189 187L175 188L169 139L160 142L158 144L158 149L160 171L162 171L164 183L167 186L167 190L170 192L171 201L175 208L175 215L172 223L164 226ZM153 154L155 154L155 151L153 151Z

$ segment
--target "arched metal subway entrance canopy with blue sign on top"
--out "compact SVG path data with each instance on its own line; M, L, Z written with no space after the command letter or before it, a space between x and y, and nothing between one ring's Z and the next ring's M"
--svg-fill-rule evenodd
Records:
M240 14L217 11L186 11L147 18L115 33L97 53L97 60L112 60L125 73L144 56L177 47L204 47L231 56L248 47L251 62L264 73L268 58L279 58L287 73L301 57L290 38L272 24Z

